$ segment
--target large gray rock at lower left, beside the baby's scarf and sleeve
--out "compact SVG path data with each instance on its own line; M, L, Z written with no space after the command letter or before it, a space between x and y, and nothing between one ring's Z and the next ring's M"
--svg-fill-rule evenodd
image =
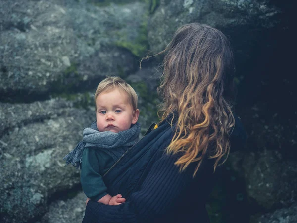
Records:
M62 99L0 104L0 120L6 120L0 131L0 222L26 222L42 216L56 193L80 184L79 170L64 167L62 158L94 114Z

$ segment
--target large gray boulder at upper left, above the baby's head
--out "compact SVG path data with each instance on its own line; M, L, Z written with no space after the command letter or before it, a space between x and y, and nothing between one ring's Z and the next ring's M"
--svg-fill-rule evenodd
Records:
M1 98L60 92L133 72L134 56L116 45L138 38L145 12L140 2L96 7L86 1L1 0Z

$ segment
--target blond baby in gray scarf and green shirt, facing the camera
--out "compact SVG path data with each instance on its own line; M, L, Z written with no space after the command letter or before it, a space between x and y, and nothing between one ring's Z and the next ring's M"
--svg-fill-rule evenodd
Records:
M66 157L66 164L77 163L81 157L81 184L84 193L103 204L119 205L125 198L107 194L102 176L139 140L137 123L138 97L134 89L119 77L101 81L95 93L96 122L83 131L83 141ZM80 151L80 152L79 152Z

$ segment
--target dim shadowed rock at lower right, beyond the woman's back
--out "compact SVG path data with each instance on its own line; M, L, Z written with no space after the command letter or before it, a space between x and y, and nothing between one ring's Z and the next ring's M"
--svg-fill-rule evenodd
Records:
M247 195L255 205L269 211L296 201L296 161L284 160L278 151L264 150L231 156L229 162L245 178Z

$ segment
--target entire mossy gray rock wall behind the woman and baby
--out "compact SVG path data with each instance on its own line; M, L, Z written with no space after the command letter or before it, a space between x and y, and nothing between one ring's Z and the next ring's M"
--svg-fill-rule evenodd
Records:
M131 83L144 133L158 120L161 70L139 59L190 22L230 36L249 136L222 168L211 221L297 222L292 15L271 0L1 0L0 222L80 222L79 171L62 157L95 119L96 86L106 75Z

